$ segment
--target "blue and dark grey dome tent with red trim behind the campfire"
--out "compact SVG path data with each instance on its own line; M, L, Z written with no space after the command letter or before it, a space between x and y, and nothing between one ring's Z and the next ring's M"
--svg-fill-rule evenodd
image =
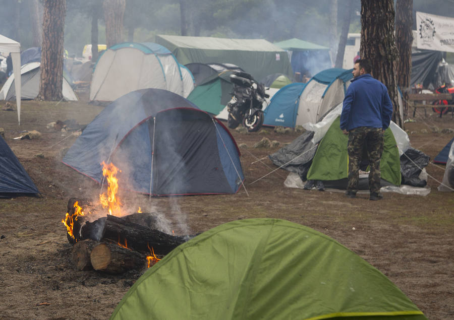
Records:
M106 106L62 162L102 183L112 163L120 188L152 196L234 194L243 180L240 151L226 127L182 96L130 92Z

